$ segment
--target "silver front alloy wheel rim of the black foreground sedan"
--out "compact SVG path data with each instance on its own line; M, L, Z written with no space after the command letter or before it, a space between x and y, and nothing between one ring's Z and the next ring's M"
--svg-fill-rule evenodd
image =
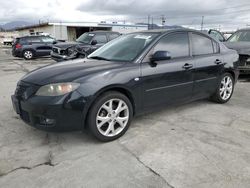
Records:
M128 105L121 99L110 99L98 110L96 126L98 131L106 137L120 134L129 121Z

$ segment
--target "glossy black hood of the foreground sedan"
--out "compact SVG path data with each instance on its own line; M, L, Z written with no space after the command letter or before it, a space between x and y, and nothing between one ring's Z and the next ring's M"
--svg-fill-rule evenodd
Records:
M22 81L36 85L72 82L90 74L122 67L124 64L122 62L77 59L36 69L25 75Z

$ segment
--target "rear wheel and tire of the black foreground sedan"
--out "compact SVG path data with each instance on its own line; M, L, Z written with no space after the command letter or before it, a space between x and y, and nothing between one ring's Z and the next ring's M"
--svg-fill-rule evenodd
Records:
M228 102L234 91L234 79L230 73L225 73L220 79L216 93L212 96L214 102L223 104Z

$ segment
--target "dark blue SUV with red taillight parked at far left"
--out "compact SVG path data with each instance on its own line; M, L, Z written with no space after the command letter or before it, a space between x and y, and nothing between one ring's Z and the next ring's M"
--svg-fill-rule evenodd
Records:
M50 36L25 36L18 37L12 45L12 55L27 60L48 56L56 39Z

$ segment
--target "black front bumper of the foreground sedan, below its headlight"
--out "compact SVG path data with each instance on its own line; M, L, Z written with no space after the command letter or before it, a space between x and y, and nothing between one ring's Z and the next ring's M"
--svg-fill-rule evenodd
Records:
M32 96L25 100L12 95L13 108L21 119L46 131L81 130L84 127L84 98L77 92L62 97Z

